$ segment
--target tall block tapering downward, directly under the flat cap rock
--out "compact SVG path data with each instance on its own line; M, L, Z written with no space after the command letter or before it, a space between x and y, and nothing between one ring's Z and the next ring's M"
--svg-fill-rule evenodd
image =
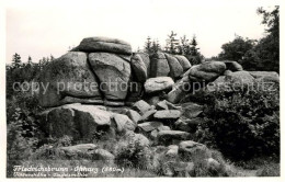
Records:
M125 100L130 77L129 62L110 53L89 54L90 65L107 100Z

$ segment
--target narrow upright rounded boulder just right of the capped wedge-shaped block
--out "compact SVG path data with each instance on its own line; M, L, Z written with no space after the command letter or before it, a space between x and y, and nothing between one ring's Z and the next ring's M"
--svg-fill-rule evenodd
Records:
M141 57L135 54L130 59L130 66L134 70L134 75L139 82L145 82L148 78L147 67Z

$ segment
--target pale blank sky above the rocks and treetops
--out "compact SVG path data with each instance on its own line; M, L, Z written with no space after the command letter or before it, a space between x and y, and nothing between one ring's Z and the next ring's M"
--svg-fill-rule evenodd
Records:
M218 55L221 45L232 41L235 35L254 39L264 36L262 16L256 14L256 9L271 4L191 2L107 0L96 3L66 1L56 7L9 7L5 11L7 62L11 62L15 53L21 55L22 61L29 56L34 62L50 55L57 58L90 36L124 39L135 52L144 48L147 36L166 45L167 35L174 31L178 37L186 35L191 39L195 35L205 57Z

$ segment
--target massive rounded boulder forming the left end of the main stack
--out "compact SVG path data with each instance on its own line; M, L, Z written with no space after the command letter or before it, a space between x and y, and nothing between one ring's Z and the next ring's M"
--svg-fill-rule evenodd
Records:
M66 96L80 98L78 102L92 99L102 102L99 83L89 68L87 54L69 52L55 59L41 72L39 104L58 106L75 101Z

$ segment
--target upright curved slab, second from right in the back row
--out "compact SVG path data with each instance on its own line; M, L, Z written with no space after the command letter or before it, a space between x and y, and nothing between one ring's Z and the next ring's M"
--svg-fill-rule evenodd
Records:
M179 60L172 55L169 54L164 54L164 55L170 68L170 77L173 79L180 77L183 73L183 68L180 65Z

